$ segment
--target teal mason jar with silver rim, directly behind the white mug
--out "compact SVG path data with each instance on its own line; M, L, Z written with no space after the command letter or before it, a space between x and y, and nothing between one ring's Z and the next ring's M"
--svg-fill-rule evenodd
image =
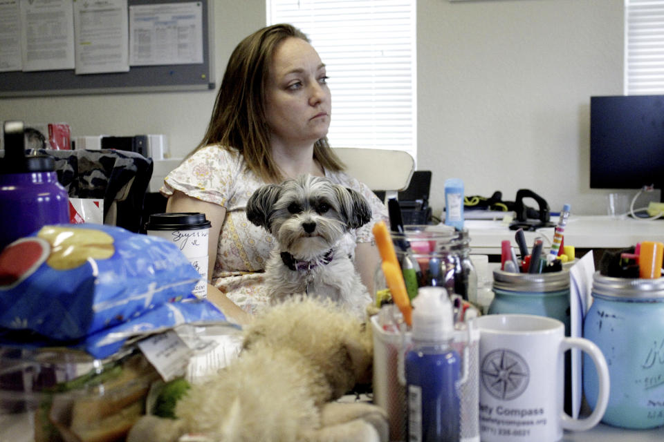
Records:
M521 313L548 316L565 325L569 336L569 271L512 273L493 271L493 298L489 314Z

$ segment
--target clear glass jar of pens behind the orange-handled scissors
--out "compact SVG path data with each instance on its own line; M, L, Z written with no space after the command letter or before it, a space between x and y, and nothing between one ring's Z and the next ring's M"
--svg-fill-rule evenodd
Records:
M444 225L407 225L403 233L390 233L409 298L418 287L445 287L450 296L477 300L477 273L470 260L468 231ZM374 273L374 299L380 307L389 299L380 265Z

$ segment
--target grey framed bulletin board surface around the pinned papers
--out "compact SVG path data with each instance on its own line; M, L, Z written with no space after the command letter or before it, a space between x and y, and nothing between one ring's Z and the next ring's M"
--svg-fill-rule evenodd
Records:
M214 89L214 0L197 1L203 6L203 64L129 66L128 72L84 75L76 75L73 69L3 72L0 97ZM129 0L128 6L162 3L177 3L177 0Z

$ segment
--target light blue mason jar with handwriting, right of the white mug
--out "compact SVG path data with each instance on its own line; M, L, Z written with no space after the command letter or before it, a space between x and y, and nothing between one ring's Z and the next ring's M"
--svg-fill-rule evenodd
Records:
M664 425L664 278L593 276L583 335L607 359L611 392L602 422L625 428ZM595 366L583 356L583 386L597 402Z

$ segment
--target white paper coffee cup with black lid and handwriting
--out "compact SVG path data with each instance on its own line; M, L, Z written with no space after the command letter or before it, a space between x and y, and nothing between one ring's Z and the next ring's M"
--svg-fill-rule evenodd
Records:
M148 235L172 241L201 275L192 293L208 297L208 236L210 221L205 213L154 213L145 224Z

